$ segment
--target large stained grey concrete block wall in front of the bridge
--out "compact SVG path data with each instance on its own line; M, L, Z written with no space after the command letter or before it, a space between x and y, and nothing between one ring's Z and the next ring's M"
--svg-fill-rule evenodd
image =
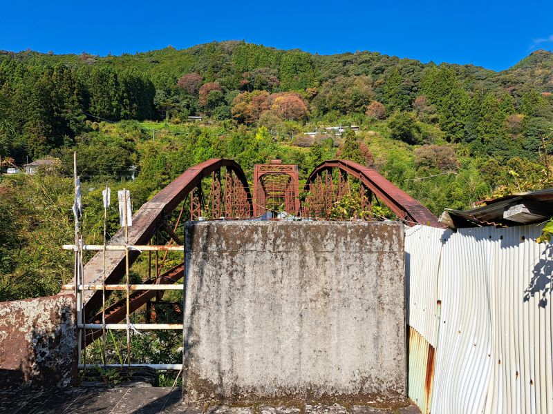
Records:
M401 224L187 224L185 402L406 395Z

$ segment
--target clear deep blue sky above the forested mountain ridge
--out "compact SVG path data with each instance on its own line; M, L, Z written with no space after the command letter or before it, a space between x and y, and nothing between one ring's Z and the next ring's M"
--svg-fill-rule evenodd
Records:
M553 50L553 1L7 1L0 49L120 55L241 40L494 70Z

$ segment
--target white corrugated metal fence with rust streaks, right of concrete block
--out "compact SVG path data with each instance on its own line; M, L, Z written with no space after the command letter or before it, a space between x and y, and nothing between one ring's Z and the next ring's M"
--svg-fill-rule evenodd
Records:
M540 232L406 230L409 325L427 341L410 334L409 396L423 413L553 413L553 252Z

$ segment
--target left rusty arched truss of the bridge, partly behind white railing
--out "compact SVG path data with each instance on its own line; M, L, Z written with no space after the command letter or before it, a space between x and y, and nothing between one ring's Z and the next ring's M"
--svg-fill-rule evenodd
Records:
M171 213L179 211L174 226L169 226L168 218ZM189 214L187 214L189 213ZM209 159L201 164L186 170L172 181L167 187L160 190L150 201L143 204L133 214L133 226L129 228L129 244L147 245L158 231L162 230L169 235L169 245L182 245L178 233L181 221L187 217L192 220L202 219L247 219L253 215L252 196L242 168L231 159ZM110 241L110 245L124 244L124 233L118 231ZM157 249L160 250L160 249ZM183 276L182 264L165 270L164 264L167 251L160 255L155 253L151 258L150 268L155 269L153 275L144 284L172 284ZM129 250L129 262L133 264L140 251ZM102 284L104 272L104 252L99 251L84 266L84 284ZM153 263L155 262L155 264ZM105 284L117 284L125 275L125 252L119 250L106 251ZM111 290L105 292L106 296ZM146 304L153 297L161 297L160 290L141 290L131 294L131 312ZM86 320L98 323L102 319L102 290L85 292L84 313ZM124 300L106 308L106 323L120 322L126 313ZM98 312L100 310L100 312ZM86 344L89 344L101 335L100 332L88 331Z

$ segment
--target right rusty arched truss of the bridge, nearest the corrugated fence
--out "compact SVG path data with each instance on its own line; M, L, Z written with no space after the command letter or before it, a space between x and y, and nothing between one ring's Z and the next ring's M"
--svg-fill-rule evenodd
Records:
M358 189L354 189L351 178L355 179L355 187ZM354 191L358 191L358 195ZM419 201L397 188L373 168L353 161L334 159L319 164L309 175L303 192L306 194L301 208L304 217L330 218L332 206L346 195L357 197L362 212L367 212L367 217L370 217L368 212L371 211L373 198L377 197L409 226L426 224L443 227Z

